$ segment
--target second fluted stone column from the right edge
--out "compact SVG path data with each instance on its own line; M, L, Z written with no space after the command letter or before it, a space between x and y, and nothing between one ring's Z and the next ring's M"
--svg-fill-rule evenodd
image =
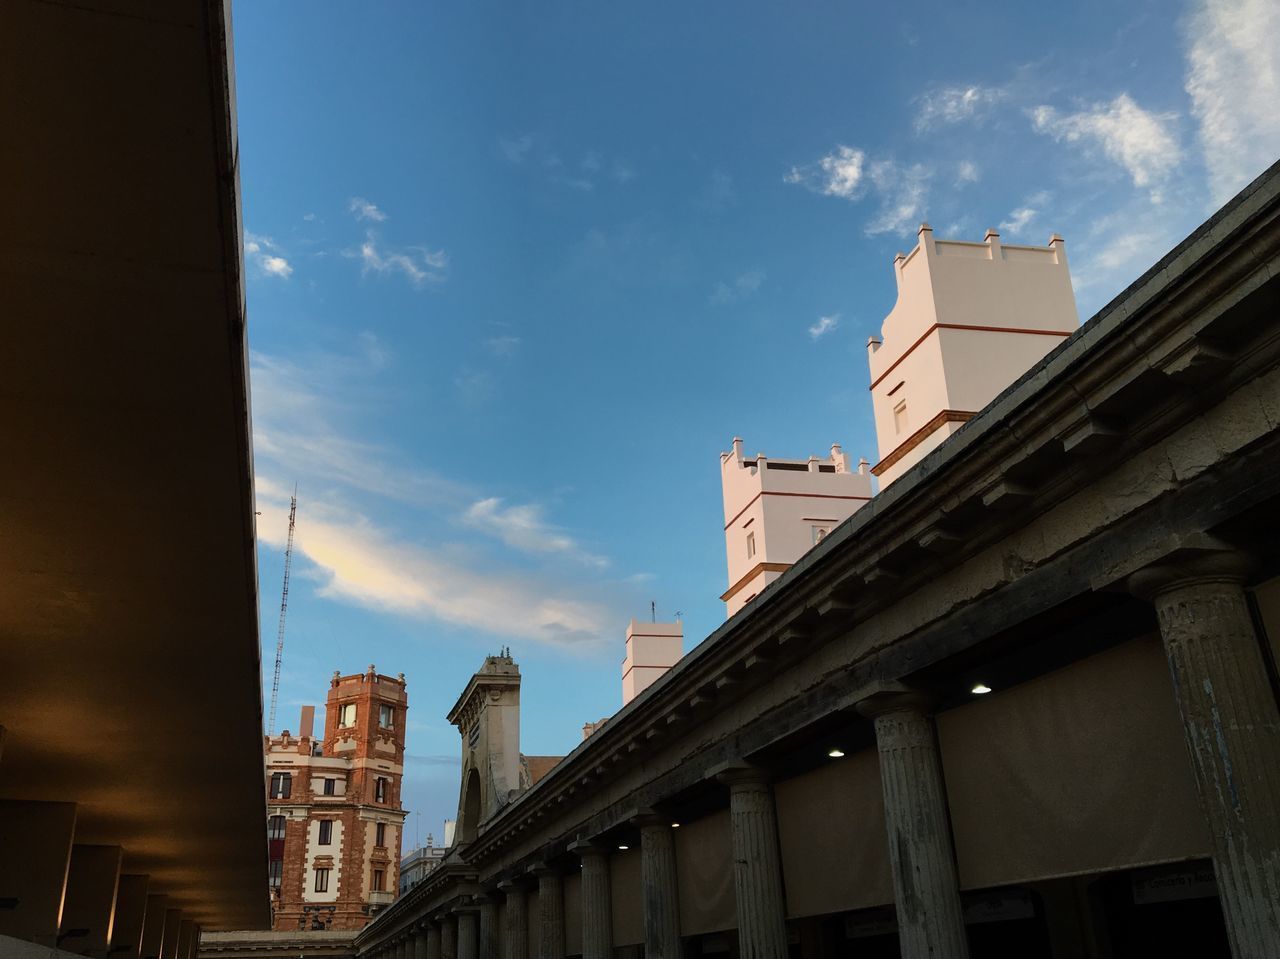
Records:
M911 691L884 693L858 708L876 720L902 959L968 959L947 796L927 702Z

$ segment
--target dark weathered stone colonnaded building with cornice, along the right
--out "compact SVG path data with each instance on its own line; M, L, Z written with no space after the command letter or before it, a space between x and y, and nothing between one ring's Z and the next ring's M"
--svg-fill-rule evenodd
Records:
M1055 339L358 954L1280 955L1280 164Z

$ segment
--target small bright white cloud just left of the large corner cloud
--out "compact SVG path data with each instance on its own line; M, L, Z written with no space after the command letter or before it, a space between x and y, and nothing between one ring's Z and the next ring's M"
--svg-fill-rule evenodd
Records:
M1128 170L1135 187L1158 186L1181 160L1175 120L1175 114L1143 110L1128 93L1079 113L1060 114L1052 106L1032 110L1037 132L1101 147L1110 160Z

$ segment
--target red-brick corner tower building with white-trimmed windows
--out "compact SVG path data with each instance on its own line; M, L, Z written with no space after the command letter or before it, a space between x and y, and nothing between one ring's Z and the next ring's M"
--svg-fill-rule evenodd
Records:
M324 739L266 739L271 928L358 930L396 899L404 810L404 676L335 672Z

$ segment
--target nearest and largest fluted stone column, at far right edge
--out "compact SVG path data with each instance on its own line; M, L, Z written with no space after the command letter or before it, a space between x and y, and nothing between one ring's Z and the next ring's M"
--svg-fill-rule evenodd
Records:
M1280 956L1280 711L1243 585L1247 557L1142 570L1174 681L1235 959Z

